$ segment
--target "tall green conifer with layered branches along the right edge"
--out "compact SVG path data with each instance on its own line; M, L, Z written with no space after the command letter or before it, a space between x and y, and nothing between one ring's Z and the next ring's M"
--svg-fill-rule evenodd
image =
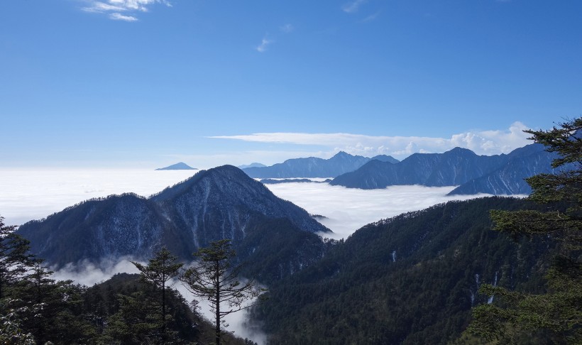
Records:
M537 143L559 154L554 174L527 179L529 199L547 206L546 212L494 210L495 230L520 236L546 236L556 241L556 255L547 275L547 291L527 294L492 285L480 292L495 295L502 305L473 310L468 332L498 341L519 342L539 336L548 343L582 344L582 118L549 131L526 131ZM560 168L565 168L561 169Z

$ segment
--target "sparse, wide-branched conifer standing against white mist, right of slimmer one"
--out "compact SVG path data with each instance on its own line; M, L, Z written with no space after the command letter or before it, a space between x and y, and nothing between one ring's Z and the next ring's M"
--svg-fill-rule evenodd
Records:
M211 242L208 248L199 249L194 256L199 261L188 268L180 279L194 296L209 300L215 316L215 341L216 345L220 345L223 317L250 307L243 306L243 302L259 297L264 290L258 288L255 280L246 283L238 280L241 265L233 267L231 263L236 252L231 248L229 239ZM228 308L221 310L221 303L228 305Z

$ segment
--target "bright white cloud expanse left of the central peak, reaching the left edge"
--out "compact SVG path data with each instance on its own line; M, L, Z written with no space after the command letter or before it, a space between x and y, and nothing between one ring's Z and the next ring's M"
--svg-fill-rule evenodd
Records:
M0 169L0 216L20 225L94 197L133 192L148 197L196 170Z

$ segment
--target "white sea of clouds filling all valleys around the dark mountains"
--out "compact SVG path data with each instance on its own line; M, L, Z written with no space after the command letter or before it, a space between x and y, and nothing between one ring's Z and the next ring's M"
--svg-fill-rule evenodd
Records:
M94 197L133 192L148 197L165 187L175 185L194 175L193 170L0 170L0 216L6 224L19 225L32 219L41 219L65 207ZM324 179L315 179L324 180ZM361 226L430 207L452 199L478 196L447 197L454 187L392 186L383 190L358 190L327 183L290 182L267 185L275 195L304 208L310 214L325 219L322 224L334 231L330 237L347 237ZM483 195L479 195L483 196ZM329 236L329 235L326 235ZM55 272L55 278L72 279L84 285L93 285L111 278L115 273L137 273L131 258L117 258L99 264L72 263ZM192 300L180 284L175 288ZM201 312L212 319L207 303L201 303ZM264 344L265 335L249 327L243 313L227 318L229 331Z

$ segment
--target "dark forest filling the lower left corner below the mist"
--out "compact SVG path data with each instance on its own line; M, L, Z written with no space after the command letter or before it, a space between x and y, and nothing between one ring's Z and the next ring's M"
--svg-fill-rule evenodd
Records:
M119 273L87 287L57 281L0 217L0 344L212 344L214 325L177 290ZM165 325L165 332L160 329ZM164 334L163 334L164 333ZM222 334L224 344L255 344Z

